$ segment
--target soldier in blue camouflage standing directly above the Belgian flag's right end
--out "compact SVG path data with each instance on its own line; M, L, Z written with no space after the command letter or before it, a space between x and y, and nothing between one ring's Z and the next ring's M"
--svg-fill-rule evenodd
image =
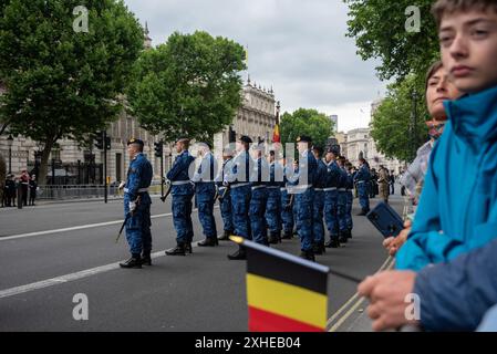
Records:
M310 149L311 138L300 136L297 138L299 150L299 164L294 166L294 175L289 178L296 192L297 233L300 237L300 257L315 261L313 250L313 201L314 201L314 174L318 163Z

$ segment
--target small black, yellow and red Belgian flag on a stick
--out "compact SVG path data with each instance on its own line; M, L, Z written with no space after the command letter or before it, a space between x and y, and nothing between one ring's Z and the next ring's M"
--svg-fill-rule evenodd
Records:
M329 268L242 238L251 332L324 332Z

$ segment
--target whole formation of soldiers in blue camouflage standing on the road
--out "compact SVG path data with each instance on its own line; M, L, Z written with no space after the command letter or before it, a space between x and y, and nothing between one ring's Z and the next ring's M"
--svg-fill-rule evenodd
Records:
M126 238L132 258L123 268L152 264L151 198L152 166L143 155L143 142L131 139L131 165L125 191ZM367 164L361 160L358 171L333 149L312 146L310 137L297 139L299 157L294 162L279 160L278 152L265 156L263 144L252 145L247 136L236 142L235 152L222 152L222 166L218 169L210 146L198 144L201 162L195 167L189 153L189 139L176 142L176 157L166 177L173 196L173 221L176 247L167 256L193 252L191 221L195 196L198 217L205 239L199 247L216 247L219 240L236 235L257 243L270 246L291 239L293 230L300 237L300 257L315 260L325 248L339 248L352 237L352 190L358 187L361 215L369 211L366 181ZM224 233L218 238L214 206L220 201ZM324 221L324 222L323 222ZM325 242L324 226L330 240ZM244 260L242 247L228 254L230 260Z

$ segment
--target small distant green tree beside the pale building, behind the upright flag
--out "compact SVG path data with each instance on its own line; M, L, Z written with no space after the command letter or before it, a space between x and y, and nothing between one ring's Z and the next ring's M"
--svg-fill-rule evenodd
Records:
M296 143L300 135L308 135L313 144L324 147L333 134L333 122L315 110L299 108L281 116L281 143Z

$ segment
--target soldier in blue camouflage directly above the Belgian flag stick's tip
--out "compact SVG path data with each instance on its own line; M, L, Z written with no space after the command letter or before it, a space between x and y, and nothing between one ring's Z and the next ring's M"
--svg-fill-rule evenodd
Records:
M236 236L245 239L251 239L249 206L251 196L250 170L253 168L253 162L249 155L249 147L252 139L248 136L241 136L237 140L237 156L234 158L231 170L228 173L227 181L231 192L232 221ZM228 254L229 260L245 260L247 254L245 249Z

